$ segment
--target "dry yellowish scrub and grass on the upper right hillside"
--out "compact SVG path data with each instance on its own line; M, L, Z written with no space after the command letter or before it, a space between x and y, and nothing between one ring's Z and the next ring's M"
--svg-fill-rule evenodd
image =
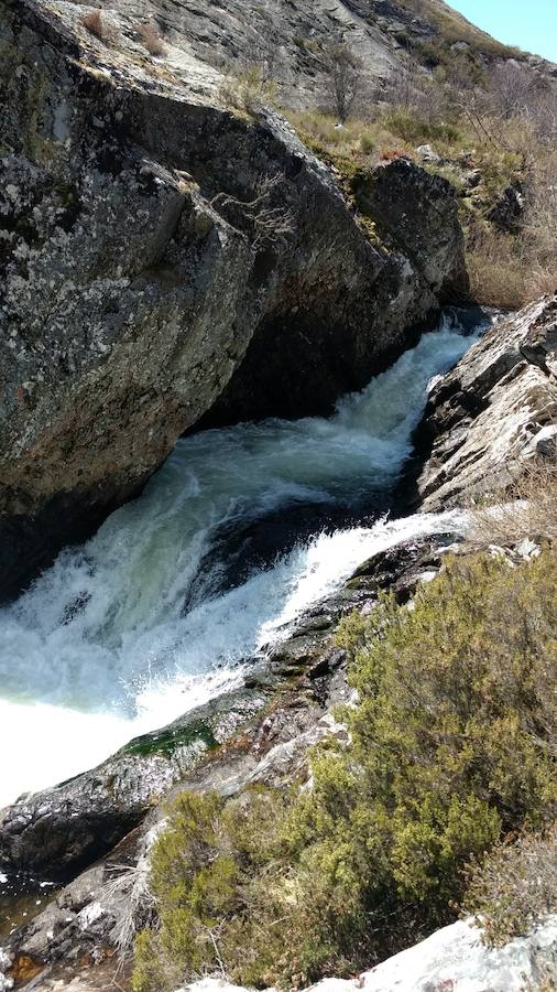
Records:
M557 89L525 63L498 62L495 42L455 51L463 39L447 32L406 46L405 69L383 87L360 86L342 127L334 103L283 110L345 192L354 171L398 155L444 175L460 197L472 295L515 309L557 288Z

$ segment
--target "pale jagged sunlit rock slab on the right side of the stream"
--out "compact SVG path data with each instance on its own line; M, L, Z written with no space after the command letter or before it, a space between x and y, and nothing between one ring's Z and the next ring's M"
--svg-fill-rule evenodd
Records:
M416 435L417 499L432 510L557 459L557 296L501 320L435 386Z

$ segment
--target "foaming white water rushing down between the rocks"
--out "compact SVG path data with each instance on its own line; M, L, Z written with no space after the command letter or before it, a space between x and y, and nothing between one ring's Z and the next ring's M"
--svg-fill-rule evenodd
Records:
M445 320L328 420L267 420L179 441L143 495L0 611L0 807L91 767L225 687L372 553L458 527L417 515L315 532L236 587L215 540L297 504L357 505L396 479L432 377L471 343ZM264 522L261 525L265 526Z

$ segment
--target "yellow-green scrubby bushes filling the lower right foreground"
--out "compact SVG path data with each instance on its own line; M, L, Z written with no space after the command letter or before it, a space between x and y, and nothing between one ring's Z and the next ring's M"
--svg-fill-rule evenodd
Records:
M350 744L320 745L291 794L182 794L153 850L135 992L207 970L301 986L447 921L471 860L556 818L556 629L553 547L520 567L449 559L409 607L386 596L347 618Z

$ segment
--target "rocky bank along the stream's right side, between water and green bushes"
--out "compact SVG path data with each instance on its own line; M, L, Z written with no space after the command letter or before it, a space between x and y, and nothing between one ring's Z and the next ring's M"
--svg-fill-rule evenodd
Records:
M555 327L554 299L540 301L524 313L499 322L436 386L421 430L425 431L432 423L432 411L439 397L450 395L456 405L459 396L457 409L461 410L466 403L468 411L473 409L471 398L476 397L476 409L481 408L487 397L496 397L505 387L511 371L511 384L514 382L516 389L527 389L523 395L528 398L531 430L516 429L517 411L509 405L506 413L502 412L492 424L492 440L483 451L485 464L499 466L502 452L511 453L510 448L504 448L511 441L515 471L527 466L533 451L551 457L553 450L539 444L533 446L532 439L539 441L548 434L546 414L549 409L550 416L553 407L548 408L547 389L553 388L550 366L555 360ZM529 358L524 357L524 351ZM533 355L537 359L535 369L544 376L543 389L528 388ZM538 363L549 371L544 371ZM465 380L467 391L457 393L454 384ZM539 401L538 406L535 400ZM457 418L445 423L448 425L439 430L437 444L450 441L457 448L458 441L461 445L468 442L472 434L469 420L466 421L467 430ZM542 438L538 436L540 431L544 432ZM427 464L424 473L428 471ZM484 478L485 485L493 485L493 477L488 472ZM459 478L459 497L478 495L476 482ZM504 477L501 482L504 483ZM253 679L240 697L225 697L216 710L194 712L187 721L178 721L144 741L132 742L124 753L94 773L9 808L0 827L0 849L4 863L12 869L28 863L37 872L55 874L63 864L64 871L75 872L85 860L101 853L100 849L87 847L91 837L97 841L100 838L105 850L121 838L108 858L64 888L51 907L14 935L9 952L15 966L21 958L29 957L37 968L56 971L67 966L68 953L74 958L87 953L92 955L91 960L103 960L102 969L106 969L111 948L120 940L118 935L122 932L123 921L129 921L132 889L138 894L134 886L143 884L138 878L144 881L149 838L164 816L164 806L156 807L143 826L124 837L129 827L139 823L149 806L149 789L139 794L133 784L145 776L152 799L163 792L172 796L168 789L173 783L176 783L175 790L216 789L231 796L252 783L284 785L293 777L299 777L309 746L325 734L342 736L346 733L332 715L334 707L349 701L346 658L332 640L339 616L354 607L364 612L370 610L382 589L394 589L400 602L405 602L418 581L427 581L438 571L447 547L458 547L461 552L477 550L478 544L470 549L466 543L455 546L455 540L460 538L461 518L457 514L446 518L445 533L443 524L437 525L435 537L403 542L375 556L357 570L332 601L299 621L288 640L266 659L264 668L254 669ZM527 557L531 548L518 548L512 553L518 559ZM245 722L249 705L254 712ZM187 743L184 734L192 735ZM192 737L195 737L195 744ZM194 751L184 752L184 747L192 746ZM181 764L185 753L192 763L189 769L185 763ZM109 799L110 789L112 798ZM98 830L98 820L103 815L108 824L105 835ZM125 865L122 864L124 854ZM116 867L117 864L120 867ZM142 865L139 875L138 865ZM76 892L81 893L79 898ZM56 964L57 961L64 963ZM106 971L101 973L106 975Z

